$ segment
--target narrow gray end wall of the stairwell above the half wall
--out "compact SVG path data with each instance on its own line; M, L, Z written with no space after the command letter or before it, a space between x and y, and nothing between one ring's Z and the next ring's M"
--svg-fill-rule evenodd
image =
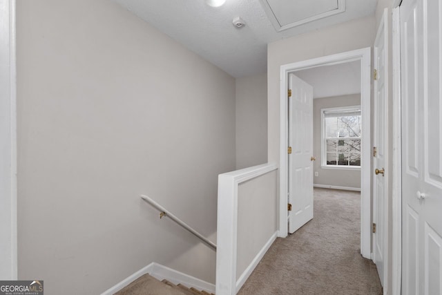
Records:
M236 169L267 163L267 74L236 79Z

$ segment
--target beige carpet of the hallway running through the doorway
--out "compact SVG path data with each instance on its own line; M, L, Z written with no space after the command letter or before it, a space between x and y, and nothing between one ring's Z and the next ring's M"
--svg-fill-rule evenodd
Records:
M314 189L314 219L278 238L238 294L382 294L361 256L361 194Z

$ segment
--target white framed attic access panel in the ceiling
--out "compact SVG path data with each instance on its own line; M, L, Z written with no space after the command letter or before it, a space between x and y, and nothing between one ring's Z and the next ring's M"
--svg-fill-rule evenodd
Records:
M345 0L260 0L276 31L345 12Z

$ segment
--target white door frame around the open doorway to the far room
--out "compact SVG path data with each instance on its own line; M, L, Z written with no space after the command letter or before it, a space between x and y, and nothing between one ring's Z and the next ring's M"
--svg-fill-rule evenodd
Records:
M361 155L361 254L371 258L371 136L370 136L370 104L371 104L371 72L372 49L361 48L335 55L317 57L282 65L280 68L280 200L279 200L279 232L278 236L287 236L287 89L289 73L319 66L343 64L349 61L361 61L361 113L363 116L362 155Z

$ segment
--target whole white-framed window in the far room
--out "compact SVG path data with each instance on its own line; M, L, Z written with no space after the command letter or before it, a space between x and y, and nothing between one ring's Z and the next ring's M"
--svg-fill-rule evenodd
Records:
M361 168L361 106L321 109L322 166Z

